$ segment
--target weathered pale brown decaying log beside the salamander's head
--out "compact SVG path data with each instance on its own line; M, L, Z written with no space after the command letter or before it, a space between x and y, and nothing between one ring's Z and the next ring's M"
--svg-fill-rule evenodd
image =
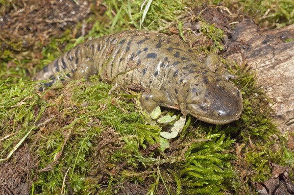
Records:
M247 62L256 71L258 84L274 102L272 117L289 133L294 132L294 41L285 41L293 38L294 24L261 31L245 19L235 26L227 52L230 60Z

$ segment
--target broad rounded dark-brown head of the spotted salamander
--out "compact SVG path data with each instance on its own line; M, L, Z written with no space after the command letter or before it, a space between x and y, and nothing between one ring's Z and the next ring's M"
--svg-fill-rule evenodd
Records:
M181 112L204 122L233 122L240 117L243 109L241 92L231 81L216 73L188 80L179 94Z

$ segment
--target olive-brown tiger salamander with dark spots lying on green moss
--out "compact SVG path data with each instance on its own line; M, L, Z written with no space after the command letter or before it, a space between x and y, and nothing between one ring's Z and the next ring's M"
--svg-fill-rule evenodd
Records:
M57 80L93 74L108 83L141 89L141 105L147 112L159 105L224 124L237 120L243 108L237 87L198 61L186 44L145 30L127 30L79 44L49 63L34 80L47 80L42 91Z

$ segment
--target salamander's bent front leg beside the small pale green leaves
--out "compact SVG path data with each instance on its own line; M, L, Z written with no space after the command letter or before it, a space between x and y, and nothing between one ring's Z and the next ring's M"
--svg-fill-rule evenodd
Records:
M158 89L148 89L143 92L141 96L141 106L143 110L146 110L148 113L152 112L157 106L178 109L169 95L165 91Z

